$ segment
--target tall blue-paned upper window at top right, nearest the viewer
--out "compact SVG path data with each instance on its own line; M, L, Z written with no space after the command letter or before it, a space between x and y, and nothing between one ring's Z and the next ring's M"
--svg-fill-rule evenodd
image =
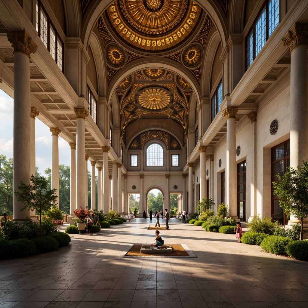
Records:
M266 0L265 6L246 37L247 68L253 62L279 23L279 0Z

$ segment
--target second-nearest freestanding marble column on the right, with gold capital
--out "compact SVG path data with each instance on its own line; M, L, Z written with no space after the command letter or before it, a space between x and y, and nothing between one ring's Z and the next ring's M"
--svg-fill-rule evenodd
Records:
M229 215L238 218L237 214L237 164L236 164L236 131L235 116L238 108L227 107L222 115L227 119L227 159L225 171L225 196Z

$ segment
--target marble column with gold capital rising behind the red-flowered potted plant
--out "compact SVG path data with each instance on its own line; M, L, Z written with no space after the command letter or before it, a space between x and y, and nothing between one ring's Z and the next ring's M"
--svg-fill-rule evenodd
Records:
M76 175L76 191L77 191L77 199L76 199L76 207L79 209L80 207L84 208L85 205L85 176L84 176L84 152L86 149L85 146L85 120L89 115L89 111L84 107L76 107L74 108L76 119L77 119L77 133L76 133L76 144L77 144L77 175Z

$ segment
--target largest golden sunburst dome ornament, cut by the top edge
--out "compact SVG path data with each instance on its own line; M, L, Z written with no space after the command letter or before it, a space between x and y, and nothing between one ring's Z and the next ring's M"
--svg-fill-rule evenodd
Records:
M201 13L189 0L117 0L106 10L121 39L142 51L178 45L192 34Z

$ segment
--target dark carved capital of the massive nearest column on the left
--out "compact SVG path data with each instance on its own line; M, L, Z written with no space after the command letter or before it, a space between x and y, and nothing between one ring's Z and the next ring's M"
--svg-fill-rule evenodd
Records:
M7 39L12 44L15 52L25 54L30 58L30 54L34 54L37 50L37 45L32 41L26 30L20 32L7 32Z

